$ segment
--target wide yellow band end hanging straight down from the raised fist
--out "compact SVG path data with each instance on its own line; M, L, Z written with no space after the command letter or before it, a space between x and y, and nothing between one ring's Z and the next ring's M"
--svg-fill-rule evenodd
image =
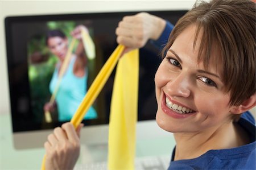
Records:
M122 56L115 73L109 122L109 170L134 169L138 112L138 49Z

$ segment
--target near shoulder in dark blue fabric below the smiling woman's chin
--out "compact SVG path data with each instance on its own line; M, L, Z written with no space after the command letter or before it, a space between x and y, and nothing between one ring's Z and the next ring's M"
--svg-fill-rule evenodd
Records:
M226 150L210 150L189 160L171 161L171 169L255 169L255 144Z

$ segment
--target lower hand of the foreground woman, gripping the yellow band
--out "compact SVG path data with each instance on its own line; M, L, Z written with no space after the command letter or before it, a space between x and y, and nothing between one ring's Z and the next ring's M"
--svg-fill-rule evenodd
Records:
M46 149L46 170L73 169L80 154L80 130L68 122L56 127L44 143Z

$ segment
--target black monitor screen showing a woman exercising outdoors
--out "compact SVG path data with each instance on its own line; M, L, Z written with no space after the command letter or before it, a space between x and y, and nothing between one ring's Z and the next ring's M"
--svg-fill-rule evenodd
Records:
M175 24L187 11L148 11ZM65 15L10 16L5 19L7 64L11 103L11 119L14 134L21 132L51 131L52 128L70 121L77 103L92 84L102 65L117 47L115 28L123 16L129 13L91 13ZM71 31L82 25L87 28L96 49L96 55L84 61L84 74L76 79L61 80L51 110L51 122L44 118L46 104L55 91L56 75L59 73L60 59L71 43ZM51 31L59 31L67 45L61 42L49 43ZM59 43L59 44L58 44ZM74 73L79 41L75 43L72 57L66 72ZM67 47L66 47L67 46ZM59 50L59 49L57 49ZM156 100L154 75L160 64L159 49L151 43L139 49L139 99L138 121L155 119ZM72 65L73 62L73 65ZM81 64L81 62L79 62ZM78 64L78 65L79 65ZM114 73L110 75L96 101L83 119L84 128L97 128L108 125L112 97ZM65 73L66 74L66 73ZM73 75L73 74L72 74ZM74 76L74 75L73 75ZM81 78L82 77L82 78ZM69 77L72 78L72 77ZM54 84L55 81L55 85ZM77 85L76 84L79 84ZM68 90L67 90L68 89ZM67 97L67 98L66 98ZM81 100L80 100L81 101ZM42 141L43 142L43 141ZM43 145L42 145L43 146Z

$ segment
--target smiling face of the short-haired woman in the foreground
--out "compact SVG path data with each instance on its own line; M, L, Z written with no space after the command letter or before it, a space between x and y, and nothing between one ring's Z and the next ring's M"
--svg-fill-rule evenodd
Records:
M195 28L191 25L177 36L155 74L156 122L166 131L199 132L232 119L230 94L224 93L221 80L220 52L213 49L205 69L197 61L198 46L193 50Z

